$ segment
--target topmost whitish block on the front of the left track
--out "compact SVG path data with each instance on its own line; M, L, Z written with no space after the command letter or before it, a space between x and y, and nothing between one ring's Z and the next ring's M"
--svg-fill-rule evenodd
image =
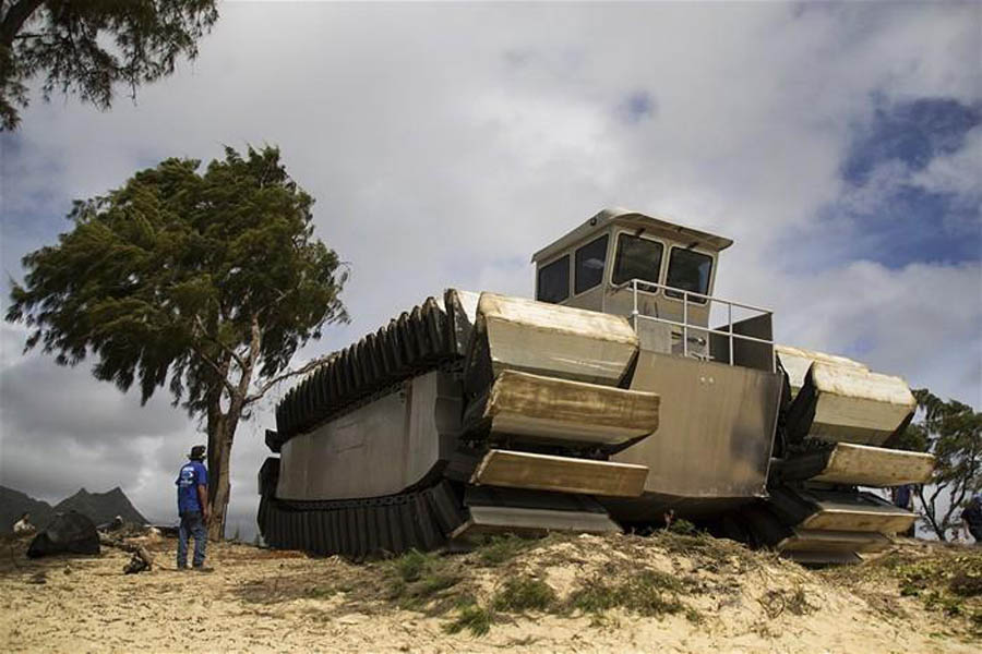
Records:
M627 319L592 311L481 293L466 385L480 392L517 370L615 386L637 351Z

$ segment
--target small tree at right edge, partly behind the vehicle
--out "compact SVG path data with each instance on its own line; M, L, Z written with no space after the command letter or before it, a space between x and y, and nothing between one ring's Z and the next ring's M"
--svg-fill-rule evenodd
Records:
M915 487L918 512L947 541L949 530L960 524L962 507L982 489L982 413L926 388L913 393L921 417L907 427L898 447L934 455L931 480Z

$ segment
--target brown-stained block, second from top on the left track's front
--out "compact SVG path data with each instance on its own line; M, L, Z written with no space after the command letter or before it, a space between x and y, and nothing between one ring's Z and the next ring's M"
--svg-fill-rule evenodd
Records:
M504 371L465 423L526 440L616 445L658 428L652 392Z

